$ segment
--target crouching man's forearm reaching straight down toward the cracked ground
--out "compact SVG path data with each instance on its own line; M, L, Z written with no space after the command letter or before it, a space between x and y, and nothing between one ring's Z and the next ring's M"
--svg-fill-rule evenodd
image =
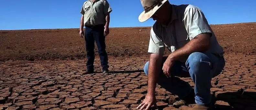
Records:
M159 54L151 54L148 66L148 91L150 95L155 94L156 82L159 78L159 73L161 72L161 62L163 56Z

